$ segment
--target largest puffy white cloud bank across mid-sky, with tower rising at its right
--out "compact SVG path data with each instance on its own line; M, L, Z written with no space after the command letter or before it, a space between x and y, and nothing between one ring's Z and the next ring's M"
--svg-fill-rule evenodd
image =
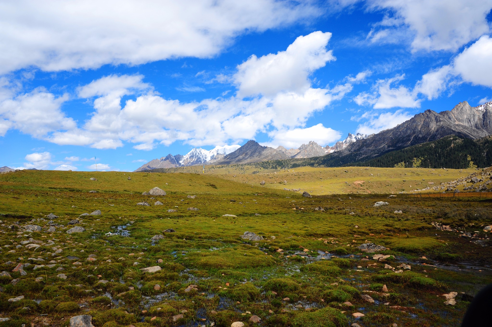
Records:
M93 104L91 117L44 139L97 149L115 149L131 142L137 150L152 150L177 140L203 146L236 143L259 132L297 131L314 112L352 90L350 82L331 88L311 87L309 75L334 60L326 49L330 36L313 32L298 37L285 51L250 57L237 67L237 73L227 77L238 87L238 95L228 98L183 103L156 94L141 75L102 77L77 89L79 97ZM266 85L269 88L263 90ZM122 104L124 95L135 98ZM323 130L321 140L327 133Z

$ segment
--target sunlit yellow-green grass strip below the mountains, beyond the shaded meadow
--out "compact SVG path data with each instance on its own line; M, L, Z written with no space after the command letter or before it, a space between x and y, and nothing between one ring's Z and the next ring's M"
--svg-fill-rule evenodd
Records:
M201 173L197 166L170 168L169 172ZM255 173L253 173L255 171ZM300 189L313 195L327 194L398 194L412 193L439 186L476 170L430 168L374 167L299 167L293 169L259 170L251 165L206 166L205 174L276 190ZM284 181L286 183L284 183ZM433 191L433 190L428 190ZM434 191L435 192L435 191Z

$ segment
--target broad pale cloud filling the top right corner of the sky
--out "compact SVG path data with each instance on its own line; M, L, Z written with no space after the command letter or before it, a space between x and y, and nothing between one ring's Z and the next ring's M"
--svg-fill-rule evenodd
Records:
M413 51L456 51L462 45L490 32L486 16L492 0L367 0L369 8L388 10L371 30L372 38L411 38ZM403 41L405 37L399 36Z

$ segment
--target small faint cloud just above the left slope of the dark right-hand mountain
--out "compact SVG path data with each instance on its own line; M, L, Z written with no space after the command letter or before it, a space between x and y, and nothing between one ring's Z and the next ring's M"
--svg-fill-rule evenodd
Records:
M383 112L379 115L376 112L369 111L364 113L362 117L369 120L357 127L357 133L370 135L393 128L398 124L412 118L412 115L402 109L399 109L395 112Z

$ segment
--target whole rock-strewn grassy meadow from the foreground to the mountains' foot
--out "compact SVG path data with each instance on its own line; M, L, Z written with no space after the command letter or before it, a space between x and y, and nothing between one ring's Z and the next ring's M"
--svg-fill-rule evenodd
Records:
M95 327L459 326L492 282L490 199L398 193L402 179L437 184L466 170L289 170L1 174L0 318L10 319L0 326L62 327L82 314ZM167 194L142 195L154 187ZM85 230L68 234L75 226ZM369 242L390 256L357 248Z

